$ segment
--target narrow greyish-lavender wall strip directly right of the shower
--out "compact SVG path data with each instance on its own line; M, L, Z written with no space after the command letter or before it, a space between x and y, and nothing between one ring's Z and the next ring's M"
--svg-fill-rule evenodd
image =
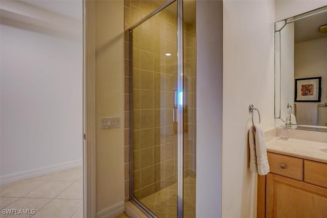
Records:
M221 217L222 15L222 1L196 2L196 216L207 218Z

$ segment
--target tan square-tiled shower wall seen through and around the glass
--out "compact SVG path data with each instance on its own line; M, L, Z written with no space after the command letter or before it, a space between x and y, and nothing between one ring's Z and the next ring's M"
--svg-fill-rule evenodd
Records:
M125 30L158 6L146 1L125 1ZM149 25L150 24L150 25ZM134 192L144 198L177 181L176 124L172 120L176 88L176 17L161 12L134 29ZM166 52L172 56L166 57ZM184 176L195 177L195 26L184 26L184 75L188 105L184 107ZM148 57L144 60L138 57ZM152 60L153 61L147 61ZM129 34L125 34L125 200L130 183L130 78ZM161 64L160 64L161 63ZM185 93L185 94L186 94ZM149 97L150 96L150 97ZM151 97L152 96L152 97ZM139 102L143 102L139 104ZM167 106L166 106L167 105ZM164 107L164 108L162 108ZM138 119L139 117L139 119ZM161 119L160 119L161 118ZM144 120L147 122L140 122ZM159 127L160 126L160 127ZM135 149L137 148L137 149ZM136 160L136 161L135 161Z

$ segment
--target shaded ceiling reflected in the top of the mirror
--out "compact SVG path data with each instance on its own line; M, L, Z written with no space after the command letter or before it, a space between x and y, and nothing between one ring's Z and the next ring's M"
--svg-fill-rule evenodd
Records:
M294 43L327 37L327 33L319 32L320 26L327 25L327 12L297 20L294 23Z

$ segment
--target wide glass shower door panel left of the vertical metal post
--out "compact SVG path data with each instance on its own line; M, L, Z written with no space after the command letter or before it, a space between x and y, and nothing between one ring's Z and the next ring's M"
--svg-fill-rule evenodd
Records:
M177 217L177 2L131 31L132 196L149 213Z

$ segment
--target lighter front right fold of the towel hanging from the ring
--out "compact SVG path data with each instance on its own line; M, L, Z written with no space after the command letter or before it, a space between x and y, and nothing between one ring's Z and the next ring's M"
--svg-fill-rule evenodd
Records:
M256 154L256 165L259 175L267 175L270 171L267 157L266 139L260 124L254 125L254 143Z

